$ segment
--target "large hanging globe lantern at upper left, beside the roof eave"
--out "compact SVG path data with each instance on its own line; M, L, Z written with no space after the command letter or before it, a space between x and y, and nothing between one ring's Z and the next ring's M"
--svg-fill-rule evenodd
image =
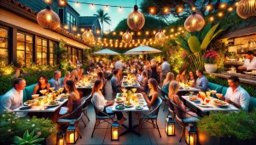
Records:
M49 6L38 13L37 20L38 24L44 29L55 30L58 26L60 26L60 18L58 14L55 14L55 12Z

